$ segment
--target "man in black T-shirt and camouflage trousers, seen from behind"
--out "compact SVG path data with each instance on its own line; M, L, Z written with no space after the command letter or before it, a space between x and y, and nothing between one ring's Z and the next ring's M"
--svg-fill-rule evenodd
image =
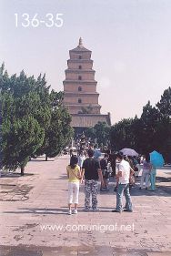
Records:
M82 168L82 180L85 175L85 210L90 210L90 197L92 196L92 209L97 209L98 178L104 186L102 170L99 162L94 159L94 150L87 151L88 159L85 159Z

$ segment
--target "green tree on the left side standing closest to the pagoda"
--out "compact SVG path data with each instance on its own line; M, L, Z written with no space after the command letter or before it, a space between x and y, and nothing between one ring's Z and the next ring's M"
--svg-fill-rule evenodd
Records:
M57 156L74 135L73 128L70 126L71 116L63 105L63 98L62 92L57 93L52 90L50 93L50 124L45 127L43 145L35 152L38 156L45 154L45 160Z

